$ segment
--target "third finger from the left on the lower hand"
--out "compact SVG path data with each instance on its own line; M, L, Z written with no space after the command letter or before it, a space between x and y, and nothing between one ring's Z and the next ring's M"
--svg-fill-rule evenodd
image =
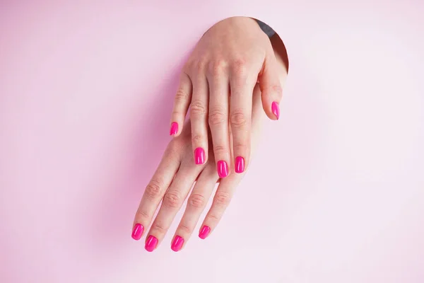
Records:
M197 221L199 221L199 217L204 211L209 197L211 197L218 178L215 166L208 166L199 176L187 200L187 207L172 240L171 249L175 252L181 250L182 246L192 236Z

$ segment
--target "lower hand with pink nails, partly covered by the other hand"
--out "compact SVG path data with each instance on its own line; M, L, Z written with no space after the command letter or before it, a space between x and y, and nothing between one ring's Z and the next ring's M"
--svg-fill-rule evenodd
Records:
M251 114L252 141L256 141L256 138L259 137L258 131L261 115L263 115L260 96L259 86L257 86L254 88ZM213 188L220 179L215 170L213 151L209 152L208 160L202 165L196 165L193 162L190 122L187 122L185 126L179 137L172 139L167 146L158 169L146 187L134 219L132 237L135 240L139 240L143 236L144 228L151 224L153 215L162 201L160 210L146 236L145 247L150 252L155 250L158 243L163 240L175 215L187 198L190 189L196 183L187 200L187 208L179 222L171 248L178 251L184 243L187 243L209 197L211 197ZM216 194L213 197L211 209L209 209L201 225L200 238L206 238L216 227L223 216L225 208L230 203L235 187L240 183L243 175L232 174L228 178L220 180Z

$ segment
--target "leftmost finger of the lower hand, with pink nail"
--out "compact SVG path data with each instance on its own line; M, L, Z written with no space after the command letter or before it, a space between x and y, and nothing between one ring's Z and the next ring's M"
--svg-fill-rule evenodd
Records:
M168 146L158 169L146 186L134 218L132 238L136 241L140 240L144 229L150 225L163 195L178 171L181 156L177 152L173 146Z

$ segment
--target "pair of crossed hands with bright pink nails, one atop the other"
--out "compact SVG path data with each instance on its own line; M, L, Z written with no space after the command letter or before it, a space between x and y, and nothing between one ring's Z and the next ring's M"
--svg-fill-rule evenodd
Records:
M139 240L162 202L147 233L146 250L155 250L163 240L194 183L172 250L187 243L219 182L199 237L206 238L217 226L249 163L261 108L278 120L285 74L281 57L252 18L228 18L201 38L182 70L175 96L170 129L174 139L134 219L132 237ZM184 125L188 110L190 119Z

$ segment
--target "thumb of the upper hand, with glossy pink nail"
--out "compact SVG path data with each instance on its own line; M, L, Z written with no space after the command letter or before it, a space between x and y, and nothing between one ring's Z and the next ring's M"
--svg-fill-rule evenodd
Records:
M259 76L262 106L266 115L271 120L278 120L280 118L280 101L283 96L283 88L278 74L277 60L272 52L272 54L266 57Z

